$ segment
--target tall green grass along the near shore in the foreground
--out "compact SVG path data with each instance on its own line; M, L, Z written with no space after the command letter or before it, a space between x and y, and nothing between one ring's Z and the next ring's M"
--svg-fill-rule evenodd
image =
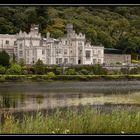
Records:
M140 112L114 110L101 113L94 109L55 111L52 115L25 116L20 122L5 115L0 133L11 134L132 134L140 133Z

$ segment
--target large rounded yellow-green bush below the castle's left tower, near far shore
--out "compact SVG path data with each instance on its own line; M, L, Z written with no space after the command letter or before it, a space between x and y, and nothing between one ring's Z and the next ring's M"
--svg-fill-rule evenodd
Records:
M7 71L6 74L18 74L20 75L22 72L22 68L18 64L13 64Z

